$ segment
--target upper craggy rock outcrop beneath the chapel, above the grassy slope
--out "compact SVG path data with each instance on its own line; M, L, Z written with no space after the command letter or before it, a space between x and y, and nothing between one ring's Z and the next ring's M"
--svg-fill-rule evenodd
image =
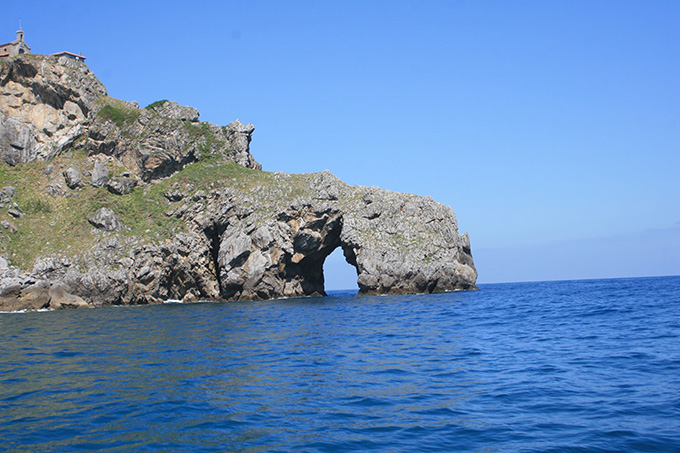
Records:
M254 127L199 122L193 107L174 102L140 109L107 96L84 63L65 57L21 56L0 63L0 160L9 165L50 160L83 146L112 156L135 177L168 177L202 156L219 154L248 168ZM97 187L106 182L93 181Z

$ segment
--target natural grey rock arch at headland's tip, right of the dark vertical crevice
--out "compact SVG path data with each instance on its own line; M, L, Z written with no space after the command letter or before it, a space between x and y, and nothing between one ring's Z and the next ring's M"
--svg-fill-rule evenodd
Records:
M325 295L323 264L338 247L356 269L360 294L475 288L469 239L458 235L450 208L376 188L359 188L359 200L353 193L346 203L339 180L330 173L317 179L327 183L314 184L319 196L274 218L246 210L227 220L216 260L221 298ZM332 184L337 195L329 197Z

